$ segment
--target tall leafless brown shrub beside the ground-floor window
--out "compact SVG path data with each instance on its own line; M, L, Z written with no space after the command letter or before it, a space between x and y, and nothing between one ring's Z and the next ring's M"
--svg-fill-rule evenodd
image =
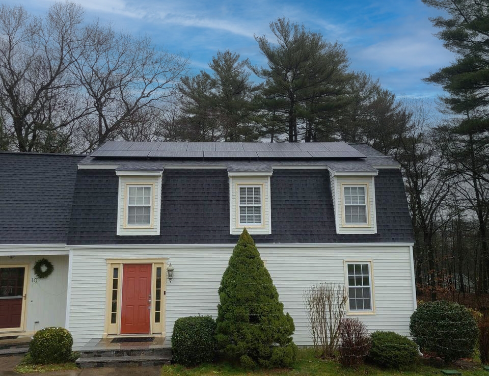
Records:
M316 357L335 357L347 300L345 288L335 283L321 283L304 291L304 304Z

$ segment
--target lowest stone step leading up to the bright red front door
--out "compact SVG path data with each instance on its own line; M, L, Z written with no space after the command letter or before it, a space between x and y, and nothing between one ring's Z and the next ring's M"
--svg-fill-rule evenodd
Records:
M161 356L124 356L124 357L92 357L78 358L76 365L80 368L98 367L151 367L170 364L171 358Z

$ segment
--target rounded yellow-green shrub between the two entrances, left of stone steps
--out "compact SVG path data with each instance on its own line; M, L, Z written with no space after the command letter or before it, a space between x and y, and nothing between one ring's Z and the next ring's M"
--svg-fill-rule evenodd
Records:
M65 328L44 328L32 337L29 354L34 364L66 363L72 345L73 338Z

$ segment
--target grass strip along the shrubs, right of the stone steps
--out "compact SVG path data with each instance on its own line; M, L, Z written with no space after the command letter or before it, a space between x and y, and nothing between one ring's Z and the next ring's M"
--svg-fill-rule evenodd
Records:
M411 370L399 371L382 369L371 365L363 365L359 369L343 368L337 361L318 361L312 350L299 350L297 362L291 369L265 369L246 371L227 363L204 364L195 368L185 368L180 365L169 365L161 368L161 376L430 376L442 375L441 369L461 369L463 376L489 376L480 363L459 362L456 366L444 365L436 360L420 360Z

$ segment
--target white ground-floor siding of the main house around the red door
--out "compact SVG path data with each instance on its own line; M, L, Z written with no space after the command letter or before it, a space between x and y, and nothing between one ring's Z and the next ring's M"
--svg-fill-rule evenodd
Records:
M294 341L311 345L303 292L313 284L345 285L344 262L368 259L374 265L375 314L359 317L369 331L387 330L409 335L413 313L412 263L409 245L290 246L259 245L258 250L284 303L294 319ZM168 258L175 277L166 286L166 334L170 343L173 324L183 316L216 317L218 289L233 245L134 246L128 248L73 249L69 329L74 346L103 335L107 264L106 258ZM349 261L352 260L352 261ZM351 313L350 313L351 314Z

